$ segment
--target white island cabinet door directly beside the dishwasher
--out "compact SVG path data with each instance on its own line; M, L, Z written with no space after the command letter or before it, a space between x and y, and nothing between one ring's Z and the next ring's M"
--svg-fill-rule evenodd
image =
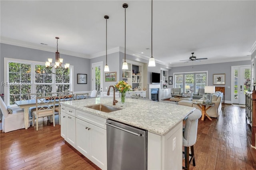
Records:
M107 132L90 124L90 160L99 168L107 169Z

